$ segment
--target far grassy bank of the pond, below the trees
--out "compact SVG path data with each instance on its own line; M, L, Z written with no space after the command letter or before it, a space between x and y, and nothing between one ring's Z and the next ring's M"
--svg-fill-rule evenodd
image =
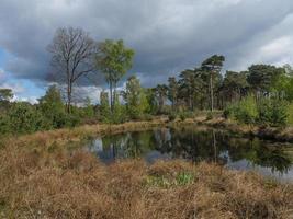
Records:
M128 122L117 125L97 124L97 125L83 125L76 128L64 128L48 131L38 131L31 135L20 137L9 137L8 140L0 142L5 145L8 141L20 143L21 146L26 143L32 145L65 145L68 141L80 141L84 138L122 134L126 131L147 130L155 127L176 127L185 125L199 125L217 129L225 129L234 134L244 136L256 136L262 139L271 139L277 141L293 142L293 127L275 128L275 127L259 127L249 125L239 125L229 119L225 119L217 116L213 119L206 119L205 116L199 116L194 119L188 118L185 120L169 122L168 117L157 117L147 122Z

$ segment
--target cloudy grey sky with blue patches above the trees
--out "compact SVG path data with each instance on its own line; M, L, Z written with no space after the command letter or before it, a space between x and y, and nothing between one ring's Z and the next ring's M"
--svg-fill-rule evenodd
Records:
M15 101L44 95L47 46L68 26L135 50L121 85L134 73L145 87L164 83L214 54L226 57L224 70L293 65L292 0L0 0L0 88L12 89ZM94 101L104 88L77 90Z

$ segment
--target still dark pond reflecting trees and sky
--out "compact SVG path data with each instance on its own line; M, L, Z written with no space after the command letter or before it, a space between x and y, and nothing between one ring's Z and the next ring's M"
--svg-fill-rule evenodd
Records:
M184 159L216 162L228 169L252 170L278 180L293 181L293 145L244 138L204 127L156 128L95 138L87 150L104 163L116 159Z

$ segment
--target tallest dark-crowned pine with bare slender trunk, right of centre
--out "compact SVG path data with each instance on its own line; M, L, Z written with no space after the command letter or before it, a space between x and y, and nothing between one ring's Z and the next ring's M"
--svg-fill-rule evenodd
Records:
M202 62L202 70L209 76L209 90L212 112L214 111L214 80L216 77L219 77L224 61L224 56L214 55Z

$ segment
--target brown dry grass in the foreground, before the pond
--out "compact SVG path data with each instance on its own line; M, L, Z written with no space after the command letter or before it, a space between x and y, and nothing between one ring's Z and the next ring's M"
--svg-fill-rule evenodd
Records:
M293 185L183 161L124 161L48 143L0 151L0 218L284 218Z

